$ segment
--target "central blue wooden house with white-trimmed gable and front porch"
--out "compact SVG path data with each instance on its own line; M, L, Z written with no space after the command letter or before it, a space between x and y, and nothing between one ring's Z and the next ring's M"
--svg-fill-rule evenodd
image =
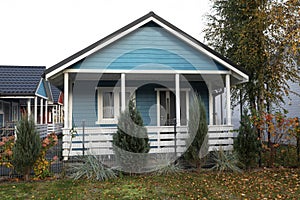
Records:
M183 152L187 122L195 120L193 92L206 106L210 150L232 149L230 87L248 81L242 68L153 12L46 69L45 77L64 91L65 158L113 154L112 134L129 98L147 127L150 153Z

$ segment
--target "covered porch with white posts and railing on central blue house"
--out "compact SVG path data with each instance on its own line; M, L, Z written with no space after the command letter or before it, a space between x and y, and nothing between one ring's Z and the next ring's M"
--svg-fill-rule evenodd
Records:
M150 139L149 153L181 155L187 148L192 93L200 95L206 106L208 151L233 149L230 87L237 79L229 71L145 74L66 70L60 81L64 94L68 94L64 96L64 116L68 116L63 128L65 159L86 154L113 155L111 141L117 119L129 98L135 99L142 114ZM111 95L107 100L105 93Z

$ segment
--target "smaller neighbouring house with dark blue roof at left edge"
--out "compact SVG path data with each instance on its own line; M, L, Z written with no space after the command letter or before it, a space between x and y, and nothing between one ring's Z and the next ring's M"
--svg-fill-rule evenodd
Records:
M40 134L47 134L49 113L52 112L48 102L57 103L52 100L49 83L41 76L44 71L43 66L0 66L1 135L13 134L22 114L31 115Z

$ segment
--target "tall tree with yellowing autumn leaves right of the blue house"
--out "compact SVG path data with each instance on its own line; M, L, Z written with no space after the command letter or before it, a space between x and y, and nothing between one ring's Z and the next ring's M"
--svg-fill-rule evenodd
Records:
M234 103L247 102L261 118L300 80L299 0L214 0L208 15L208 45L244 67L249 82L233 88ZM243 102L241 102L243 100ZM260 130L257 128L260 137Z

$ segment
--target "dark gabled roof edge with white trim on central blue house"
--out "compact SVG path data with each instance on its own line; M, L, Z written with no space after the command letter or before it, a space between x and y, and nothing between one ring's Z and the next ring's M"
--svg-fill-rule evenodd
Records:
M132 23L124 26L123 28L113 32L112 34L106 36L105 38L95 42L94 44L82 49L81 51L73 54L72 56L62 60L61 62L57 63L56 65L48 68L45 70L45 77L46 79L51 77L57 77L58 74L62 73L64 69L71 66L72 64L80 61L83 58L93 54L94 52L104 48L105 46L113 43L114 41L126 36L127 34L133 32L139 27L143 25L153 22L158 26L166 29L170 33L174 34L176 37L180 38L184 42L188 43L189 45L193 46L198 51L206 54L207 56L211 57L213 60L219 62L221 65L227 67L233 73L237 74L241 77L241 82L248 81L248 73L242 67L239 67L229 59L225 58L221 54L217 53L213 49L209 48L208 46L204 45L200 41L196 40L192 36L188 35L184 31L180 30L176 26L172 25L171 23L167 22L163 18L156 15L154 12L149 12L148 14L144 15L143 17L133 21Z

